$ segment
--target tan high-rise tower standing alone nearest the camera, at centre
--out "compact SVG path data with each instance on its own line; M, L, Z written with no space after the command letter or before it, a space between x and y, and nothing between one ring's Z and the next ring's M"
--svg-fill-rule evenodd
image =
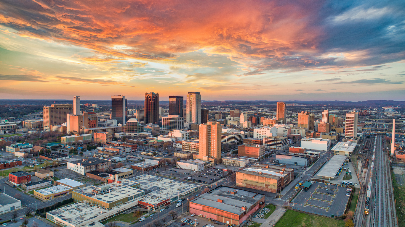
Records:
M199 127L199 153L194 158L204 161L221 163L221 132L218 122L207 122Z

